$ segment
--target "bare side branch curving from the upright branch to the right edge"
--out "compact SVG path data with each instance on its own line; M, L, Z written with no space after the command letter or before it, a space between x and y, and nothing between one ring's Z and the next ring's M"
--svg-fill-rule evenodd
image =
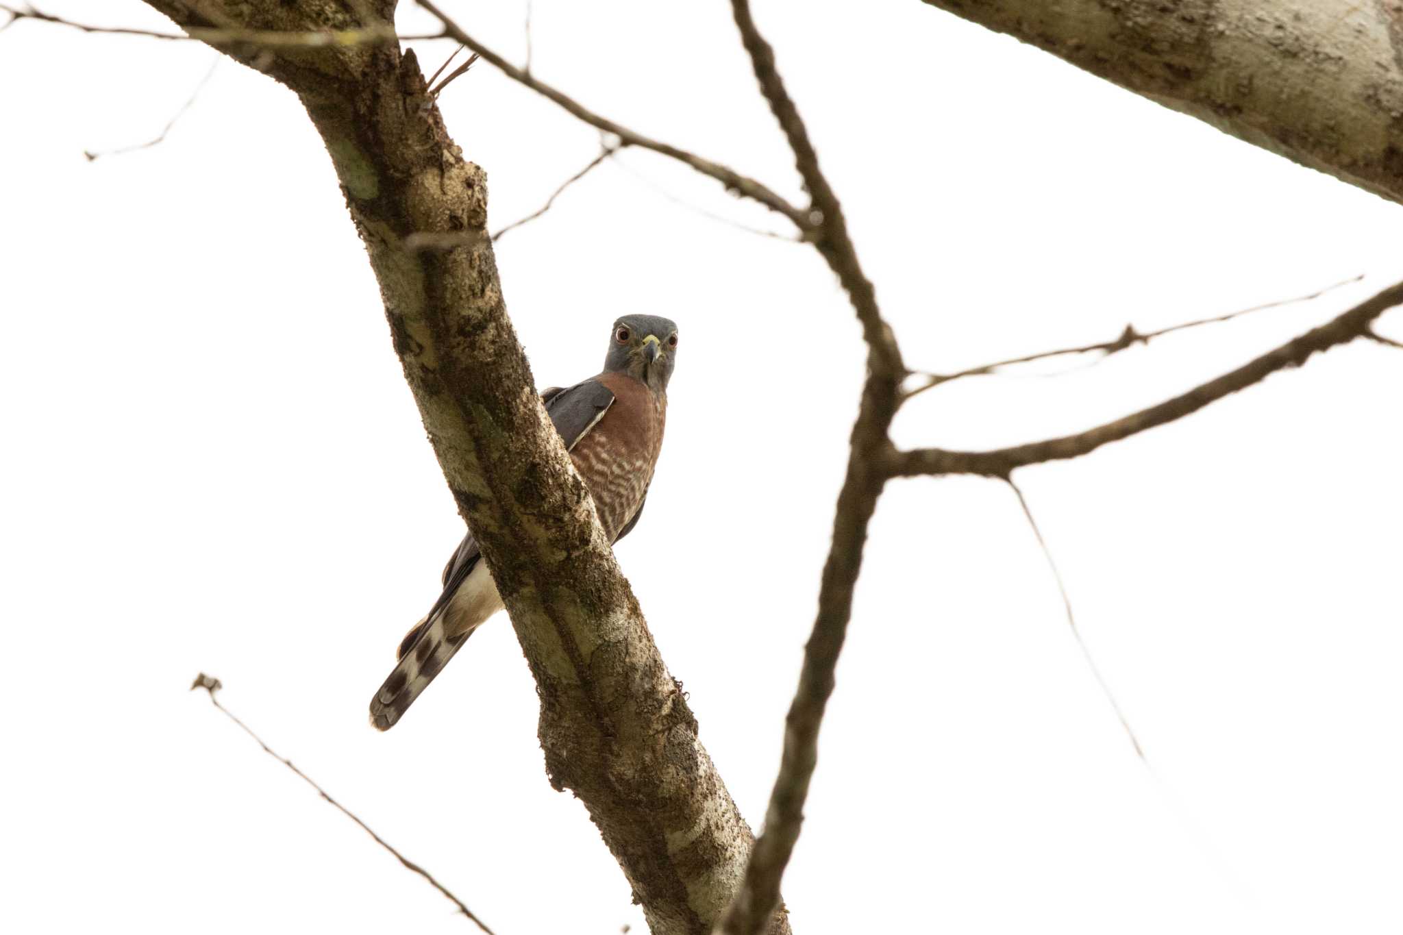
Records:
M1114 422L1107 422L1106 425L1076 435L993 451L946 451L943 449L898 451L891 457L891 475L981 474L985 477L1007 478L1013 470L1020 467L1090 454L1103 444L1128 439L1132 435L1198 412L1205 405L1216 402L1239 390L1246 390L1254 383L1260 383L1277 370L1298 367L1316 352L1367 336L1374 320L1397 304L1403 304L1403 283L1389 286L1319 328L1312 328L1306 334L1268 350L1236 370L1197 385L1188 393L1166 400L1159 405L1132 412Z

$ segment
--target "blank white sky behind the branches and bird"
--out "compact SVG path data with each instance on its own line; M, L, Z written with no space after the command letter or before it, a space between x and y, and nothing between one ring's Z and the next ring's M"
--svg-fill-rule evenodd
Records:
M446 6L525 55L523 4ZM135 0L46 8L167 25ZM918 0L758 17L912 366L1368 273L1104 366L927 394L902 444L1089 428L1403 278L1399 206ZM641 931L584 807L546 782L505 617L403 725L366 725L462 527L297 101L224 63L161 146L83 157L157 133L215 57L32 22L0 35L0 928L476 931L188 694L205 670L499 935ZM533 66L797 195L725 3L536 0ZM488 171L494 228L598 150L487 66L442 104ZM861 348L811 250L634 174L777 219L651 154L617 163L501 241L502 282L542 385L595 373L620 313L680 324L671 435L619 557L755 823ZM1403 335L1403 314L1382 327ZM1007 488L894 484L786 878L796 932L1399 931L1400 394L1403 356L1357 342L1019 475L1152 768Z

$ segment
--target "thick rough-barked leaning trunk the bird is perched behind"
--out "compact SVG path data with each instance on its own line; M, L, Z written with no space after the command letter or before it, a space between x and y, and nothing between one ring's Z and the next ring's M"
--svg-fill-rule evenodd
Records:
M394 6L147 3L187 28L288 32L387 25ZM536 678L551 784L585 803L655 934L709 932L753 838L536 395L485 236L483 170L394 42L217 48L292 88L325 142L424 426ZM770 931L788 932L783 915Z

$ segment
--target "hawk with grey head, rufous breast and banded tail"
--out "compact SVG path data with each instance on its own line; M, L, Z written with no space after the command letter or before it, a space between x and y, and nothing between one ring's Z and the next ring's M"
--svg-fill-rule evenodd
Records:
M658 315L623 315L609 331L598 374L540 394L570 460L589 488L610 542L633 531L662 451L668 381L678 360L678 325ZM443 568L443 590L404 639L390 676L370 699L370 725L389 730L488 617L502 610L471 528Z

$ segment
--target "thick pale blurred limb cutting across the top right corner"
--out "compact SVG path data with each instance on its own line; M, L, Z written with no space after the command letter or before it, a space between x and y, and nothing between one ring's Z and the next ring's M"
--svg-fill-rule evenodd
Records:
M1403 200L1400 0L925 0Z

